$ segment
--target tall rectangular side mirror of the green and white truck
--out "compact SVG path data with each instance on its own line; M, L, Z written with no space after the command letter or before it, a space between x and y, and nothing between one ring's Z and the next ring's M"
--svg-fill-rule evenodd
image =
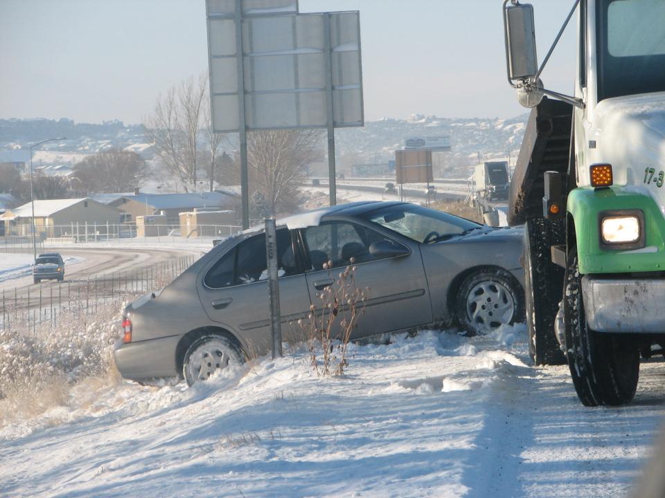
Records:
M508 79L512 83L515 80L535 78L538 74L538 56L535 53L533 6L529 3L515 3L505 7L504 29Z

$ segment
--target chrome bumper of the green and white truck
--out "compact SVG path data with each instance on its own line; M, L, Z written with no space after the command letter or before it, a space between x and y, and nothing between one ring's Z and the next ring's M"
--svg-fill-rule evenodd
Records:
M585 317L597 332L664 333L665 279L582 277Z

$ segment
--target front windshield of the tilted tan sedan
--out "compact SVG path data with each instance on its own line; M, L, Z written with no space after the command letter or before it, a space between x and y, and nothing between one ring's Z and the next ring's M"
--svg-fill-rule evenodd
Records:
M450 239L483 226L443 211L409 204L389 206L362 217L420 243Z

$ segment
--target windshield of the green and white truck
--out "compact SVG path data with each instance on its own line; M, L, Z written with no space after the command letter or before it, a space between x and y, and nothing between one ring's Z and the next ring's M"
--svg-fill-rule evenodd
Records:
M598 101L665 91L665 2L598 2Z

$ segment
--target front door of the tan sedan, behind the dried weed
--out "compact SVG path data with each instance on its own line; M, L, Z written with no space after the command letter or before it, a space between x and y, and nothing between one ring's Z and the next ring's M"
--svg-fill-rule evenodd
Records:
M339 280L339 274L351 265L355 270L355 288L366 290L360 307L363 314L351 338L409 329L432 322L429 288L420 254L405 244L358 223L332 221L302 231L308 257L307 285L310 300L321 313L321 293ZM372 255L374 242L389 241L403 249L402 255ZM328 262L329 269L323 268ZM339 322L335 333L339 333Z

